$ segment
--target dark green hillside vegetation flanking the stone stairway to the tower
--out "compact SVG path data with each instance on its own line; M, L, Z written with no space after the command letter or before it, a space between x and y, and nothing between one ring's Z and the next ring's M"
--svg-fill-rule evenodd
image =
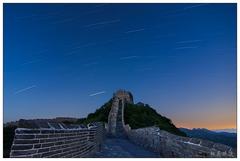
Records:
M78 120L78 124L87 124L91 122L108 122L108 114L111 110L112 99L97 109L94 113L90 113L87 118ZM147 104L127 104L124 111L125 124L129 124L132 129L158 126L160 129L168 131L175 135L186 136L172 123L172 121L156 112Z

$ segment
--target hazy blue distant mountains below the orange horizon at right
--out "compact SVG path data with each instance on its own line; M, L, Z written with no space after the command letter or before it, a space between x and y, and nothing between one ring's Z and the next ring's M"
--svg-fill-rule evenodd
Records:
M181 131L185 132L188 137L200 138L205 140L210 140L216 143L222 143L233 148L237 148L237 134L229 132L214 132L208 129L186 129L179 128Z

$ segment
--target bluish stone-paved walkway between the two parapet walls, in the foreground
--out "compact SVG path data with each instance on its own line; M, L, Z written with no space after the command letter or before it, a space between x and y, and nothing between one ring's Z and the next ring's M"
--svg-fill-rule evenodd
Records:
M127 139L107 138L95 158L159 158L159 155L131 143Z

